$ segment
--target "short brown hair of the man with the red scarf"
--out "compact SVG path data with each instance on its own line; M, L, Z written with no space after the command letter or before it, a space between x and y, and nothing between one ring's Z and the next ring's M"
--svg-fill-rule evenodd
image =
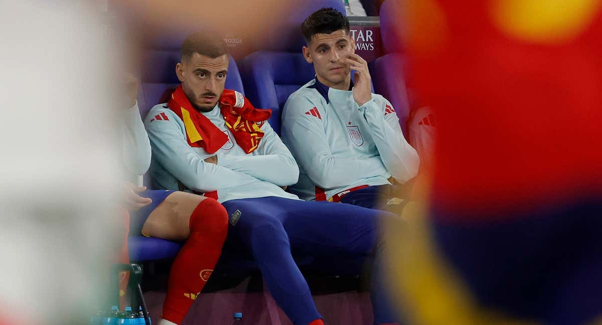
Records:
M198 53L210 58L221 57L228 54L228 48L223 37L216 32L202 31L190 34L182 43L182 56L180 61L186 60L191 55Z

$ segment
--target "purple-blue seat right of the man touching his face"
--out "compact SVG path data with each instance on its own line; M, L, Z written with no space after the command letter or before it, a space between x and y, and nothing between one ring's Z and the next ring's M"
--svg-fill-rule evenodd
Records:
M402 2L387 0L380 7L380 36L386 53L374 62L374 87L379 94L393 104L403 134L408 137L406 125L410 114L408 92L405 83L405 58L399 34L399 17Z

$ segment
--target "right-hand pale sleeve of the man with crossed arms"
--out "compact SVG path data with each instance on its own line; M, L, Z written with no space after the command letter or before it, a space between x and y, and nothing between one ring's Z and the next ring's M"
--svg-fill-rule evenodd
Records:
M296 184L299 179L299 167L293 155L270 123L266 121L262 130L264 136L256 151L258 155L218 155L217 164L278 186Z

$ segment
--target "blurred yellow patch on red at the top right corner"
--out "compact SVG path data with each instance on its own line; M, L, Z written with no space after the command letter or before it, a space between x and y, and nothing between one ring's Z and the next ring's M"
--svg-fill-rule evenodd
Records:
M494 25L510 37L562 43L579 36L594 19L600 0L494 0Z

